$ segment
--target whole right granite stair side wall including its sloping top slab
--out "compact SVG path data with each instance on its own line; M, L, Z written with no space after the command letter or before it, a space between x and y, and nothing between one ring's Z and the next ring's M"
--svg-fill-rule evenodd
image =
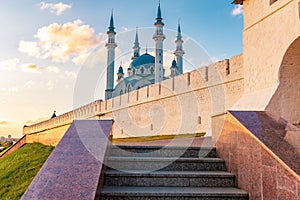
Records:
M218 156L250 199L300 199L299 129L264 111L229 111L216 118L217 125L223 121Z

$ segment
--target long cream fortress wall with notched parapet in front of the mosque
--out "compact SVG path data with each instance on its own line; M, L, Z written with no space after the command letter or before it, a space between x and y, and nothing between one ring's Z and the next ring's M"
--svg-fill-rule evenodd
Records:
M114 138L209 132L211 116L225 112L243 94L242 63L243 56L238 55L107 101L94 101L24 127L23 133L32 141L46 141L53 134L58 140L63 129L56 127L93 118L114 119Z

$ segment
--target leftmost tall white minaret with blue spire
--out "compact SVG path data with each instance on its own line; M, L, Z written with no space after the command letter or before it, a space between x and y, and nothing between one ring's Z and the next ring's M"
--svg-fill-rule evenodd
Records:
M111 11L110 23L107 31L108 41L106 43L107 48L107 79L106 79L106 90L105 99L112 98L112 93L114 90L114 68L115 68L115 48L117 44L115 43L115 27L114 27L114 17L113 11Z

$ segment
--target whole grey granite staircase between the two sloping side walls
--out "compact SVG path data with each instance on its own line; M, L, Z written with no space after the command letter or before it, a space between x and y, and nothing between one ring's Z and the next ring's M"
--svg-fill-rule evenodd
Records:
M216 149L111 146L100 199L246 200Z

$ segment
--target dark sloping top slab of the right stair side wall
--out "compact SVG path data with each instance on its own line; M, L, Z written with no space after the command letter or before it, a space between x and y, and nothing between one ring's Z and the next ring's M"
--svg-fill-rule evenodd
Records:
M295 144L295 141L299 141L300 143L299 128L265 111L229 112L291 169L300 175L300 153L297 150L297 144ZM294 143L287 140L287 134L291 129L296 133L293 140Z

